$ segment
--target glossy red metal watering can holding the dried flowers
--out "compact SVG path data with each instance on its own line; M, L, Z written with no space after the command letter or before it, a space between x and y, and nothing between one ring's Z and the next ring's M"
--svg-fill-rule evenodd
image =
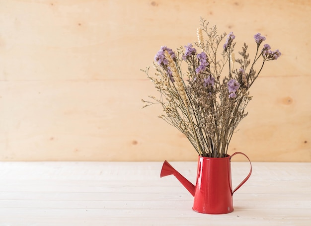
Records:
M230 160L235 154L244 155L250 163L247 177L233 190ZM251 162L242 152L235 152L223 158L198 158L196 185L177 172L166 160L160 177L173 174L194 196L192 209L203 214L227 214L233 211L233 193L239 189L251 175Z

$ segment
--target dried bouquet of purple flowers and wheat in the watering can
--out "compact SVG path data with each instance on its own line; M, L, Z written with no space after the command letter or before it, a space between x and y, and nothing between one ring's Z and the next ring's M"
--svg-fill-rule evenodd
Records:
M160 48L154 62L156 76L149 75L149 68L143 70L155 84L159 98L149 96L152 101L142 101L144 107L161 104L164 114L159 117L182 132L199 155L225 157L234 130L247 115L244 109L251 100L249 88L265 62L278 59L281 53L271 51L268 44L261 47L265 37L258 33L254 36L257 49L253 61L245 43L238 52L240 58L235 59L233 32L219 35L216 25L208 25L201 19L197 30L194 45L201 53L192 44L178 48L176 53L166 46ZM226 65L229 69L224 76Z

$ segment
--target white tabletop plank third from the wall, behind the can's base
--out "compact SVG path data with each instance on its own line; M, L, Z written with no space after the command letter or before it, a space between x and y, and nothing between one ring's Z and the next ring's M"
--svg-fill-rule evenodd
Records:
M170 188L168 188L170 189ZM174 198L172 194L166 194L166 196L161 197L163 193L152 194L154 198L149 197L146 194L148 189L141 192L140 195L136 193L128 193L125 197L125 193L122 193L122 199L115 195L115 193L105 193L104 195L98 195L98 192L93 192L93 200L89 196L85 195L84 192L76 193L76 197L73 200L66 200L67 196L63 199L53 198L53 199L43 199L42 197L37 199L0 199L0 208L3 209L181 209L189 210L193 205L192 198L187 196L178 196L179 198ZM116 191L118 192L118 191ZM160 192L160 191L159 191ZM94 194L95 193L95 194ZM119 192L118 192L119 193ZM72 193L70 193L72 194ZM54 194L55 195L55 194ZM135 195L135 196L134 196ZM83 200L81 200L81 197ZM243 209L252 210L257 209L258 206L254 206L254 203L260 204L261 208L265 209L288 209L289 206L293 206L293 209L306 209L311 211L310 200L304 200L306 194L289 193L286 194L239 194L233 196L234 205L237 207L242 207ZM278 202L275 202L275 200ZM42 203L44 202L44 204ZM62 208L60 208L62 207Z

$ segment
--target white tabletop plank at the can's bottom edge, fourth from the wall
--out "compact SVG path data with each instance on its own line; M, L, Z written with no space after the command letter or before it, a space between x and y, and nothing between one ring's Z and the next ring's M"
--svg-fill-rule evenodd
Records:
M14 208L13 211L10 211L10 209L3 208L3 211L5 211L5 216L6 217L16 217L19 216L21 218L27 218L27 217L36 217L38 218L43 218L43 217L57 217L57 218L80 218L81 216L87 216L89 218L156 218L157 216L161 216L163 218L179 218L179 217L194 217L198 215L198 213L195 213L193 210L191 210L191 207L185 210L180 210L176 211L176 209L139 209L135 208L132 210L124 210L122 208L118 209L106 209L106 208L101 208L101 209L88 209L87 206L83 209L67 209L67 208L56 208L56 209L50 209L50 208ZM238 215L239 213L244 213L247 217L246 219L252 219L252 218L264 218L267 219L310 219L310 215L307 215L306 210L303 211L302 209L281 209L281 210L275 210L271 213L271 210L273 209L251 209L251 210L245 210L245 209L240 209L236 208L235 213L224 215L222 221L224 219L232 219L232 216L236 214ZM308 209L309 211L310 209ZM3 213L3 212L2 212ZM204 214L202 214L204 215ZM2 216L1 216L2 217ZM4 216L3 216L4 217ZM201 219L202 220L202 219Z

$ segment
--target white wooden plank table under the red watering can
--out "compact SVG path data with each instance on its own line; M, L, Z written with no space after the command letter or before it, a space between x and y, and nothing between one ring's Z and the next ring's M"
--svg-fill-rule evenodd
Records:
M191 182L196 162L170 162ZM234 211L192 211L162 162L0 162L0 226L310 226L311 163L253 162ZM232 162L233 186L249 163Z

